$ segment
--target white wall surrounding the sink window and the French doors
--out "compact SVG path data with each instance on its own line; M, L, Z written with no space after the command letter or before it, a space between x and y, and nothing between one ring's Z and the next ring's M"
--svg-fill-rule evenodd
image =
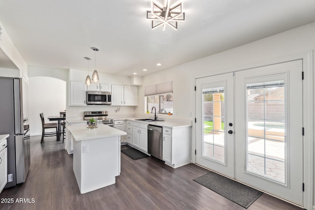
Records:
M288 30L231 50L221 52L219 54L194 60L188 63L184 63L179 66L175 66L164 71L160 71L143 78L143 86L139 91L139 106L136 110L137 115L141 115L144 111L144 87L152 84L162 83L164 81L173 81L173 110L174 115L169 116L170 119L194 119L194 78L201 76L209 76L215 74L221 74L226 72L232 72L242 70L249 67L255 67L258 63L269 62L273 63L273 60L284 58L290 55L296 55L300 53L306 53L315 50L315 22L293 29ZM314 55L314 54L313 54ZM314 56L313 56L314 57ZM311 58L315 60L315 58ZM310 63L314 72L314 64ZM314 73L313 73L314 75ZM308 77L308 76L306 76ZM314 78L311 78L314 84ZM314 91L314 86L311 89ZM314 91L315 92L315 91ZM304 110L306 113L314 113L313 110ZM192 116L189 117L188 113L192 111ZM315 116L312 116L313 118ZM311 118L312 118L311 117ZM312 121L312 119L311 119ZM194 129L194 125L192 127ZM310 130L310 127L309 127ZM315 136L315 127L311 128L311 133ZM192 132L192 138L194 139L194 132ZM314 144L314 139L311 140ZM194 150L194 141L192 142L192 150ZM313 152L314 153L314 148ZM306 164L310 159L314 157L308 157L305 160ZM314 160L315 163L315 160ZM313 167L315 168L315 166ZM302 172L301 172L302 173ZM312 183L311 183L312 184ZM313 184L315 180L313 177ZM309 186L306 186L308 189ZM315 189L315 186L313 186ZM310 195L310 194L309 194ZM313 201L312 201L313 200ZM313 193L313 199L310 198L310 203L313 203L313 210L315 210L314 201L315 193ZM306 204L307 208L312 209L312 205Z

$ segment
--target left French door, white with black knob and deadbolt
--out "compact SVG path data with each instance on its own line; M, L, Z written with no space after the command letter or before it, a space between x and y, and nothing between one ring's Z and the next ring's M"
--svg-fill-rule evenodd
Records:
M233 73L196 80L196 162L234 178Z

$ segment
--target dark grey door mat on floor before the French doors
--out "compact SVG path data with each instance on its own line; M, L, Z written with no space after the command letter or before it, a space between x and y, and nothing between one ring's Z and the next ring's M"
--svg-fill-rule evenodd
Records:
M253 189L252 187L228 179L214 172L196 178L194 181L246 209L262 195L262 192Z

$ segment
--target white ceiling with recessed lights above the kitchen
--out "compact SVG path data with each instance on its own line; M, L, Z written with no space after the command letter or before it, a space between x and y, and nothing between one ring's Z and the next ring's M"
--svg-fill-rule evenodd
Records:
M83 57L91 57L93 70L91 47L97 47L97 71L128 76L315 22L315 0L182 1L185 22L178 23L178 30L151 29L146 19L150 0L1 0L0 22L30 66L87 70Z

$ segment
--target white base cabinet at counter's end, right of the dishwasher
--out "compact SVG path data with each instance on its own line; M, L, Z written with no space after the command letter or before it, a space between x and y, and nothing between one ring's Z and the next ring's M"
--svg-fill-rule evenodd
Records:
M162 160L172 168L191 162L191 127L163 127Z

